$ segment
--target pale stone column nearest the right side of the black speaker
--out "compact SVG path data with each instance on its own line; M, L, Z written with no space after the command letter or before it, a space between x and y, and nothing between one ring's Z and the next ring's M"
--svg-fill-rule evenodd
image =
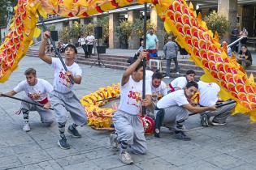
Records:
M119 13L112 13L109 15L109 48L119 48L119 37L115 34L115 28L119 25Z

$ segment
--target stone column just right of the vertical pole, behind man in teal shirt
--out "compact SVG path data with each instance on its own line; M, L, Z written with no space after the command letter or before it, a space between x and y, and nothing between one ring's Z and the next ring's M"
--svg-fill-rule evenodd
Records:
M164 28L163 28L163 21L160 19L160 17L157 14L157 11L154 7L150 10L150 23L154 24L154 27L156 29L156 36L158 36L158 50L163 50L164 45Z

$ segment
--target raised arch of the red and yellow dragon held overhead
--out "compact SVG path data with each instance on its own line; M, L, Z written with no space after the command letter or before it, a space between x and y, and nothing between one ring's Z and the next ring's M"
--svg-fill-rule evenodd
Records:
M202 17L184 0L18 0L10 30L0 47L0 82L4 83L26 54L36 28L37 10L46 17L89 17L104 11L128 6L131 3L151 3L163 19L167 32L177 36L177 42L191 54L191 59L202 67L202 80L218 83L223 100L236 100L235 113L247 113L256 121L256 85L245 70L220 48L218 36L208 30Z

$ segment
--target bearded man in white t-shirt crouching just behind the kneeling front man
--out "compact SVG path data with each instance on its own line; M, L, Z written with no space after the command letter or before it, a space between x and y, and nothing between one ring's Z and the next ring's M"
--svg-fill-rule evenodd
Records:
M152 92L152 107L148 111L148 116L154 118L154 108L163 96L167 95L167 84L162 81L163 74L159 72L154 72L152 78L147 80L145 83L150 84Z

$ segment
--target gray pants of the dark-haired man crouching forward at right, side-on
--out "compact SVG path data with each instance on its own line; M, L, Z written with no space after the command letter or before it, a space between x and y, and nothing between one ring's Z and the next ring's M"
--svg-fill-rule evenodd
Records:
M163 124L175 122L175 130L182 130L184 121L189 117L189 112L182 106L164 108ZM158 111L156 111L156 114Z

